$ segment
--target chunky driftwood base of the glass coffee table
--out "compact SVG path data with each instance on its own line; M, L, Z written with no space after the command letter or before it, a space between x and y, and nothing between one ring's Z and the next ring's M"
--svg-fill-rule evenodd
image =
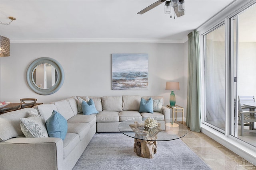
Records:
M143 158L154 158L156 153L157 143L156 141L145 141L140 139L134 139L134 152L138 156Z

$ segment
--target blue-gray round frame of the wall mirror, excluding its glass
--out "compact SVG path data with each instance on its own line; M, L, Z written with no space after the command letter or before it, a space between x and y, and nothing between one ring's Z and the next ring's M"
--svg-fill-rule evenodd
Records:
M54 86L52 86L51 88L41 89L35 85L35 82L33 79L33 72L36 69L36 67L40 64L51 64L52 66L55 67L55 69L57 71L57 74L58 74L57 81L54 84ZM49 95L49 94L53 94L53 93L57 92L64 83L64 77L65 77L64 70L63 70L62 66L60 65L60 63L58 61L56 61L55 59L52 59L49 57L42 57L42 58L39 58L39 59L36 59L35 61L33 61L28 66L28 70L27 70L27 74L26 74L28 86L34 92L36 92L37 94L41 94L41 95Z

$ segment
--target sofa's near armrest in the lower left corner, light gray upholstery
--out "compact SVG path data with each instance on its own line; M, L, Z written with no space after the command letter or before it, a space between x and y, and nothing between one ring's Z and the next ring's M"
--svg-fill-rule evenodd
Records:
M62 170L62 139L19 137L2 141L0 165L4 170Z

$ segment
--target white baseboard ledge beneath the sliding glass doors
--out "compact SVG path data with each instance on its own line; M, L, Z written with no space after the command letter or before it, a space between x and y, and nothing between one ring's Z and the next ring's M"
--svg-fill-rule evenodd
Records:
M242 158L246 159L251 164L256 165L256 149L252 146L246 146L244 142L239 139L232 139L233 137L228 137L225 134L216 131L215 129L202 124L201 132L207 135L208 137L214 139L224 147L232 150Z

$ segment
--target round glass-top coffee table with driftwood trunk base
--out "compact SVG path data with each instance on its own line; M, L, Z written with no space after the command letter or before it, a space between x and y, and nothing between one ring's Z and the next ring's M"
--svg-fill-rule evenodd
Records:
M172 141L184 137L188 128L178 122L165 123L161 127L148 129L144 127L144 121L129 119L118 126L120 132L128 137L134 138L134 152L143 158L154 158L157 149L157 141Z

